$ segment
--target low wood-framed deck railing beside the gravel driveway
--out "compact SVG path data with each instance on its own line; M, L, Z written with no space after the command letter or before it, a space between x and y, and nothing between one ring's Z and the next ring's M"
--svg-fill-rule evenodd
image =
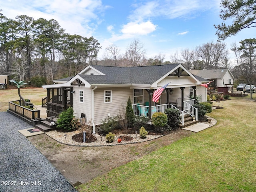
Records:
M15 104L14 102L19 102L19 100L9 102L9 110L27 118L27 119L40 118L40 110L31 110L31 109L21 106L19 104Z

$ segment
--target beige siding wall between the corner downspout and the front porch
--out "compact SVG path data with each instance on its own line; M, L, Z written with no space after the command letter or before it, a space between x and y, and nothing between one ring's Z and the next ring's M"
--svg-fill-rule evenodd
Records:
M112 90L112 102L104 103L104 90ZM104 118L120 114L120 108L125 112L128 98L133 103L133 89L130 87L121 88L97 88L94 90L94 124L101 124Z

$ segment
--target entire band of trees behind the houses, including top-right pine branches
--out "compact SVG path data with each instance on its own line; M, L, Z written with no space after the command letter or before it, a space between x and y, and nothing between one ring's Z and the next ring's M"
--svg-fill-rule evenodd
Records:
M231 65L226 44L221 42L245 28L255 25L256 3L250 0L220 3L220 18L233 23L215 25L218 42L207 42L192 50L183 49L180 53L158 55L147 58L144 44L134 39L124 54L120 48L110 44L105 54L98 60L102 48L98 40L76 34L67 34L54 19L34 20L26 15L6 18L0 10L0 74L15 80L50 84L52 80L73 76L88 64L105 66L144 66L182 63L190 69L230 68L237 82L256 83L256 40L245 39L234 44L235 66ZM39 85L40 86L40 85Z

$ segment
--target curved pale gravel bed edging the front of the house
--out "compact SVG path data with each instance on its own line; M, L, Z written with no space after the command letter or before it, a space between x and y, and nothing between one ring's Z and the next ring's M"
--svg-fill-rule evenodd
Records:
M133 140L131 141L121 141L120 143L118 143L117 138L119 136L122 136L124 134L120 134L120 135L116 135L115 136L115 140L112 143L108 143L106 138L104 136L101 136L99 134L94 134L94 136L97 138L96 141L91 142L91 143L80 143L80 142L76 142L74 140L72 140L72 136L79 134L79 131L72 131L72 132L68 132L68 133L62 133L62 132L58 132L58 131L49 131L46 132L45 134L47 134L48 136L50 136L51 138L53 138L54 140L63 143L63 144L68 144L68 145L73 145L73 146L110 146L110 145L120 145L120 144L130 144L130 143L137 143L137 142L144 142L144 141L148 141L148 140L152 140L158 137L161 137L162 135L147 135L145 139L140 138L140 134L127 134L127 136L133 137ZM66 139L65 139L65 134L66 134ZM87 134L87 133L86 133Z

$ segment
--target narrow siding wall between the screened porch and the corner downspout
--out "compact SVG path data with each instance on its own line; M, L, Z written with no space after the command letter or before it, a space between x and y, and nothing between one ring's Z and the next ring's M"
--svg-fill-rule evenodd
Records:
M92 118L92 89L73 87L75 93L73 94L73 108L76 118L80 118L81 113L86 115L87 121ZM79 102L79 90L84 91L84 103Z

